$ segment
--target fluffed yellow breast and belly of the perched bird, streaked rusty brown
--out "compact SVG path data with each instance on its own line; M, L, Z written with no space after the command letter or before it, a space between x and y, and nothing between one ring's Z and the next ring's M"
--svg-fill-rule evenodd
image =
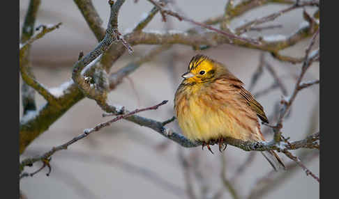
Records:
M241 114L232 102L218 93L181 88L174 100L176 118L183 135L192 141L220 137L251 139L251 129L241 124Z

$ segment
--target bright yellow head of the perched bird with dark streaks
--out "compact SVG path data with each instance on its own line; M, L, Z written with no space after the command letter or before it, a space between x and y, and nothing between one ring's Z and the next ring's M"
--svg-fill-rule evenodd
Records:
M182 75L184 83L202 83L212 81L219 72L220 66L211 58L197 54L188 65L188 72Z

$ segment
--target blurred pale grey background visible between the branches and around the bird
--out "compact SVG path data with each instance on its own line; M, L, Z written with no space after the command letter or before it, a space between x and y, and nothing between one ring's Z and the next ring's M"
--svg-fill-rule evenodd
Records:
M198 22L209 17L215 17L224 12L226 1L176 1L176 6L186 16ZM237 2L237 1L236 1ZM20 1L20 35L24 16L29 1ZM93 1L103 26L107 26L110 8L107 1ZM269 5L255 9L232 21L231 26L269 15L287 6ZM119 30L126 33L153 8L148 1L126 1L119 13ZM171 7L170 7L171 8ZM312 15L315 10L307 9ZM161 21L157 14L146 26L145 31L165 31L166 26L173 30L185 31L192 24L179 22L167 17L169 25ZM304 21L302 9L294 10L274 22L283 28L248 33L248 35L288 35L299 28ZM37 40L31 47L31 63L36 79L47 87L59 86L71 77L72 65L77 61L80 51L88 53L96 47L97 41L91 33L80 10L73 1L42 1L38 11L36 24L63 24L59 29L48 33ZM285 49L283 54L303 56L309 40L303 40L292 48ZM138 56L146 54L152 46L140 45L133 47L133 56L124 54L112 67L111 72L118 70ZM121 104L128 110L152 106L163 100L169 100L165 106L156 111L140 113L141 116L158 121L167 120L173 116L174 93L181 82L181 74L186 72L190 58L197 53L211 56L229 67L236 77L250 85L253 73L259 65L260 51L245 49L232 45L220 45L201 52L193 51L192 47L174 45L153 61L144 63L128 78L117 86L109 95L112 104ZM300 65L281 63L264 54L264 58L283 79L288 93L292 93L296 75ZM304 80L319 79L319 63L314 63L308 70ZM20 86L22 79L20 78ZM252 93L256 93L273 83L273 78L267 70L259 79ZM21 91L20 91L21 92ZM282 99L279 89L267 95L261 95L257 100L264 106L267 115L273 113L277 101ZM21 95L20 95L21 103ZM45 104L43 97L36 95L38 106ZM29 145L20 156L26 157L43 154L53 146L69 141L74 136L82 134L86 128L94 127L109 118L102 118L103 111L93 100L84 99L67 111L50 129ZM22 104L20 104L20 118ZM176 122L168 125L180 132ZM263 127L265 128L265 127ZM319 85L302 90L292 106L291 115L284 122L283 135L291 137L291 141L305 138L307 134L319 131ZM271 138L271 132L266 135ZM220 193L220 198L232 198L222 180L222 156L225 156L226 176L231 178L234 189L240 198L248 197L257 180L269 173L272 168L261 154L255 154L251 164L241 175L236 175L237 169L243 164L250 152L228 146L223 154L218 152L218 146L212 147L215 154L201 148L182 148L167 140L152 129L140 127L125 120L119 120L110 127L73 144L66 151L53 155L52 173L47 177L47 168L33 177L20 180L20 190L27 198L193 198L188 189L192 187L195 198L213 198ZM293 151L301 154L303 150ZM256 153L256 152L255 152ZM291 162L284 154L283 161ZM188 166L183 162L188 161ZM301 159L303 161L303 159ZM34 164L27 171L39 168ZM319 176L319 158L313 158L306 166ZM319 198L319 183L307 176L301 168L280 171L286 176L280 179L259 198Z

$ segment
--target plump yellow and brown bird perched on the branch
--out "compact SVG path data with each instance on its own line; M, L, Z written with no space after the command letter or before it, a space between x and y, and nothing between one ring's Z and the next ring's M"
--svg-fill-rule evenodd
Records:
M202 142L202 149L206 145L212 154L209 145L218 143L223 152L226 138L265 141L258 120L269 123L264 108L223 63L197 54L182 77L174 95L174 115L186 138ZM273 150L262 154L274 170L285 169Z

